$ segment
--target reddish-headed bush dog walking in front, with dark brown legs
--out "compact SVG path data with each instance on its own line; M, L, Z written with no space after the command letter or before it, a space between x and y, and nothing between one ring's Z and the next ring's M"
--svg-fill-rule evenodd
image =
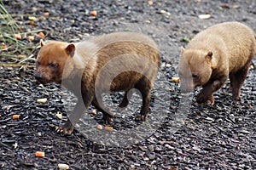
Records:
M41 83L60 83L78 97L67 122L57 127L58 132L71 134L90 104L102 111L105 122L112 122L113 114L102 105L102 93L106 91L124 91L119 106L125 107L129 103L128 91L137 88L143 98L137 118L145 121L159 67L160 52L152 39L117 32L79 43L42 41L34 77Z

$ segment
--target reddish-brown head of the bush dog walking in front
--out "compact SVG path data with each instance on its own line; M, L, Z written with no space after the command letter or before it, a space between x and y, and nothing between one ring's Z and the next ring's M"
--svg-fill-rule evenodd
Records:
M73 62L75 46L67 42L40 42L41 49L36 61L34 77L41 83L61 83L62 73L67 62ZM72 65L72 64L71 64Z

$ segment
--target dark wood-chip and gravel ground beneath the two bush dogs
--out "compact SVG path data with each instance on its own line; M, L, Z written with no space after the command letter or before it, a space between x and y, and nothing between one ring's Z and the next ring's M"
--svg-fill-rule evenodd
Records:
M108 146L97 142L99 134L93 134L95 139L87 138L79 128L67 137L55 132L51 125L64 122L55 114L62 113L64 120L67 115L67 99L63 96L73 97L56 84L38 85L32 77L33 60L26 69L0 66L1 169L58 169L58 163L66 163L70 169L256 168L256 66L249 71L241 89L241 102L232 102L227 82L215 94L215 105L196 105L195 99L191 99L189 113L176 130L173 125L181 113L183 98L178 83L171 80L177 77L179 48L186 47L188 40L207 26L236 20L256 32L255 1L162 0L152 5L139 0L4 0L3 3L24 31L43 29L48 40L78 42L113 31L137 31L153 37L160 46L160 73L166 77L163 84L170 99L164 108L166 115L154 133L137 144ZM92 10L97 11L96 16L90 14ZM200 14L211 17L203 20L198 17ZM33 24L30 16L36 17ZM39 38L32 43L38 41ZM156 88L162 87L158 84ZM158 96L157 92L154 89L153 96ZM38 103L37 99L42 98L48 102ZM112 98L117 103L120 95L114 94ZM128 111L131 116L115 118L114 130L140 126L133 121L133 112L137 111L133 109ZM20 119L13 120L11 116L16 114ZM90 117L102 124L101 113ZM109 135L114 137L113 133ZM45 156L36 157L36 151L44 151Z

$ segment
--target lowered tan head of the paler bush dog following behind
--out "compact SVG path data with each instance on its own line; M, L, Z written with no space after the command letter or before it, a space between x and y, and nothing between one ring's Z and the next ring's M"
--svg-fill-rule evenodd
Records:
M181 48L179 77L182 92L205 85L212 75L212 51Z

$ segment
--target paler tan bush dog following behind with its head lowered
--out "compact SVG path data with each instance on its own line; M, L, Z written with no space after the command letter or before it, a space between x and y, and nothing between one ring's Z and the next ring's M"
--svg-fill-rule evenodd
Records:
M224 22L198 33L181 49L179 77L182 92L202 86L198 103L214 104L213 92L230 78L234 100L256 52L253 31L239 22Z

